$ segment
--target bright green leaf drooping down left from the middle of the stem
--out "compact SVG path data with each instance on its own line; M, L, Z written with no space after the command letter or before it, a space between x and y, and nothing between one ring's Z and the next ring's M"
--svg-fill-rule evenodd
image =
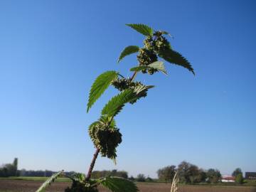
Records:
M87 103L87 112L90 110L90 107L95 103L97 99L102 95L105 90L107 90L107 87L110 86L112 80L117 78L118 73L114 70L107 71L105 73L102 73L100 76L97 77L95 82L93 82L89 100Z

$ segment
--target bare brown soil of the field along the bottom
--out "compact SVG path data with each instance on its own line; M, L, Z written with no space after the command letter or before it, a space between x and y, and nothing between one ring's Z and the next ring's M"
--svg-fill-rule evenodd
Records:
M41 181L0 180L0 192L34 192L41 186ZM70 186L69 182L55 182L46 191L60 192ZM139 183L141 192L169 192L170 185L165 183ZM100 192L107 192L100 188ZM250 186L180 186L179 192L256 192Z

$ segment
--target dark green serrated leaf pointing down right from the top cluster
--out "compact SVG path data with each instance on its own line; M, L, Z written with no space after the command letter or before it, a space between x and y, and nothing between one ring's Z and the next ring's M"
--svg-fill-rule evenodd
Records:
M175 50L166 49L159 53L159 57L164 58L164 60L168 61L169 63L173 63L176 65L180 65L183 68L187 68L189 71L195 75L191 63L186 60L180 53L176 52Z

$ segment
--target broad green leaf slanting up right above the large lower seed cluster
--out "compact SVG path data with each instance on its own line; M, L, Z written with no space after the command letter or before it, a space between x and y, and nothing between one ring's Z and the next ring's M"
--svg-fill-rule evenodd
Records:
M105 105L102 110L102 115L108 117L114 117L122 110L124 104L134 100L137 97L136 93L132 89L127 89L120 92L118 95L112 97L112 99Z

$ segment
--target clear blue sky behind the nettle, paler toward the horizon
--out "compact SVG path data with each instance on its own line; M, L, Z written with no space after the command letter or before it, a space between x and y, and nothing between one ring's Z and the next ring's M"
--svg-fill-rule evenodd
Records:
M100 158L95 169L156 177L186 160L256 171L255 10L255 1L0 1L0 164L86 172L87 126L117 93L87 114L90 85L105 70L131 75L135 55L117 58L144 37L124 23L146 23L174 36L196 76L168 63L167 77L139 75L156 87L116 118L117 166Z

